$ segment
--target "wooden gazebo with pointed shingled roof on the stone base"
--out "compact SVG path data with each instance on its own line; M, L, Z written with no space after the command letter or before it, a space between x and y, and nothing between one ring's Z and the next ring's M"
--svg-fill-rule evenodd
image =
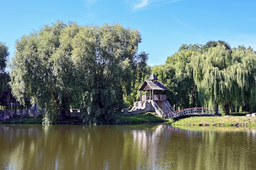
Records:
M164 84L160 82L154 74L152 74L148 80L145 80L138 90L140 101L167 101L168 88L166 88ZM141 91L145 91L146 95L141 95Z

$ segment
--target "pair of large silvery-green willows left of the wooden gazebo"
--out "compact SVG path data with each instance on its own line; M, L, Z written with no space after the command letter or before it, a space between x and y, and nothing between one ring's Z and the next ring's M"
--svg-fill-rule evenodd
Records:
M11 88L44 110L44 123L81 108L88 124L116 123L143 55L139 31L120 24L79 26L57 21L16 42Z

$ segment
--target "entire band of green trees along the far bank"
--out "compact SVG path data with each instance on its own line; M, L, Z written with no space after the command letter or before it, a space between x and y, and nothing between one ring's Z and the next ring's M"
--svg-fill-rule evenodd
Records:
M8 48L0 43L0 90L11 88L20 104L29 97L43 124L67 121L70 108L80 109L84 124L118 124L151 73L169 89L175 110L256 112L256 52L250 46L231 48L221 40L182 44L164 64L150 67L148 54L138 52L141 39L138 30L121 24L47 24L16 41L10 75Z

